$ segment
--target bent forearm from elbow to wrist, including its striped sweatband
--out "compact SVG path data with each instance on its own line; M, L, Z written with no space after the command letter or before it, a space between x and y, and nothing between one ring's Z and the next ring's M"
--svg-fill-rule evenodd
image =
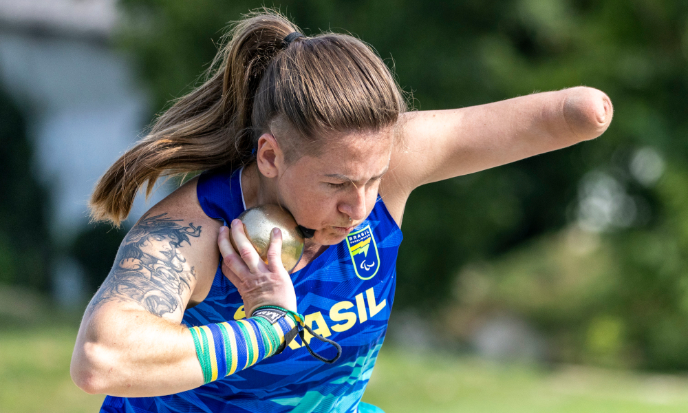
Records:
M72 377L89 393L122 397L173 394L222 379L283 350L297 333L286 313L274 323L250 317L193 328L140 311L98 316L79 334Z

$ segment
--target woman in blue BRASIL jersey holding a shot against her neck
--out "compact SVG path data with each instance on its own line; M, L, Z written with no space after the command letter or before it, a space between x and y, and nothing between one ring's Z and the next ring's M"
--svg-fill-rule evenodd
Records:
M143 182L150 191L162 174L206 171L125 237L79 330L77 385L110 395L103 412L374 411L359 401L411 191L595 138L612 118L609 98L588 87L405 109L383 61L352 36L305 37L272 12L237 23L206 83L94 191L95 218L119 224ZM291 274L279 231L266 265L235 220L270 203L310 235ZM292 339L303 326L341 357L312 358L305 344L336 352L309 333Z

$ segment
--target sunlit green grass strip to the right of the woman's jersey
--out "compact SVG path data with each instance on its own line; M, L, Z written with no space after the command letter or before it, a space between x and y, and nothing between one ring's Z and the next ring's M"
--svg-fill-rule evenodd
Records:
M686 412L688 378L581 366L544 370L380 352L363 401L387 413Z

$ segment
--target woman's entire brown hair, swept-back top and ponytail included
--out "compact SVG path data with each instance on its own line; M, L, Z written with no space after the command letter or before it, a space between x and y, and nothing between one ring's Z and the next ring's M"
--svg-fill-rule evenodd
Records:
M405 112L394 76L363 41L327 32L286 45L292 32L299 28L273 10L235 22L204 83L100 178L89 204L93 219L119 225L138 190L146 184L149 196L161 176L246 165L275 120L294 131L278 141L293 160L348 132L390 127Z

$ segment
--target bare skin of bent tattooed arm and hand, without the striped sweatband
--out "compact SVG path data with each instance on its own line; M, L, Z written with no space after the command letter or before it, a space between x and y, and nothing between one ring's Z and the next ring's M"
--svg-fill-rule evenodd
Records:
M202 212L195 181L144 215L122 241L86 310L72 356L74 382L89 393L135 397L202 385L193 335L181 321L189 301L202 301L209 290L219 261L217 242L223 271L247 310L266 304L296 310L288 274L279 263L282 272L261 265L242 227L233 229L236 253L228 231ZM279 257L281 242L271 248L277 244L272 257Z

